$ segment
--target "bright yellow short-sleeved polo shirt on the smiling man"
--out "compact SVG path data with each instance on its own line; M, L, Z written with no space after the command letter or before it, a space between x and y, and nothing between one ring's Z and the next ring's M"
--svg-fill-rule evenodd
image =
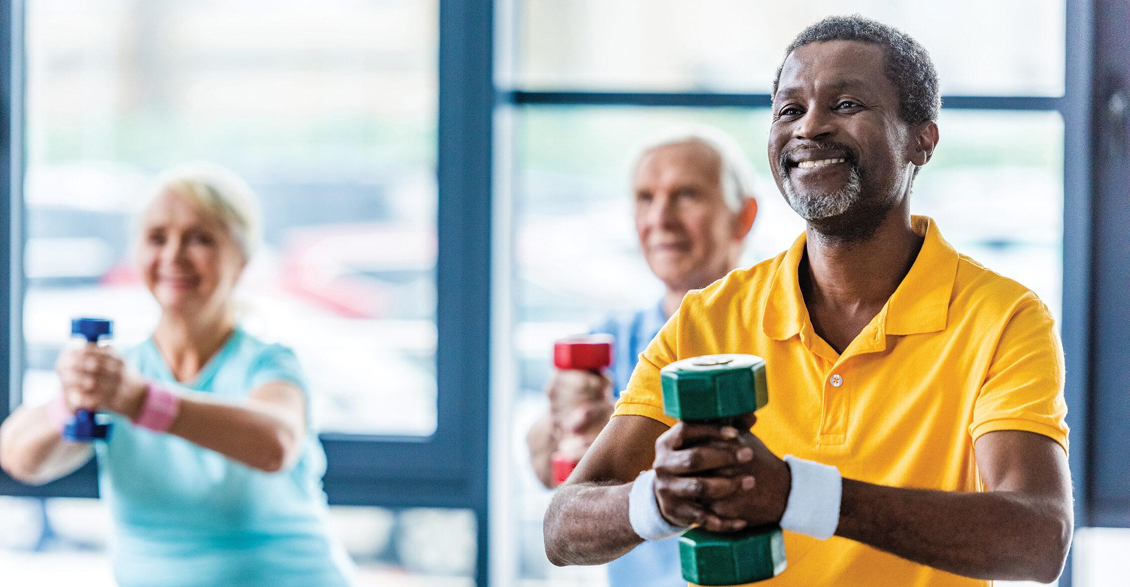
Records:
M781 255L692 291L640 356L615 415L668 426L659 370L687 357L756 354L770 402L753 432L777 456L835 465L884 485L983 491L973 443L994 430L1048 436L1067 450L1063 352L1048 307L958 254L935 222L886 306L836 353L812 330L797 270ZM757 586L986 586L835 536L785 533L789 566Z

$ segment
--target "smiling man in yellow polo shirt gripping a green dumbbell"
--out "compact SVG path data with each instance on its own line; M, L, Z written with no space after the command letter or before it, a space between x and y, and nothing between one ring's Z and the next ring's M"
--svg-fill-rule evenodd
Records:
M925 51L880 23L833 17L790 45L768 152L808 228L688 294L641 356L546 514L554 563L770 523L786 531L788 568L758 585L1059 576L1072 528L1062 351L1032 291L910 214L938 96ZM766 360L770 403L749 431L663 414L660 369L714 353Z

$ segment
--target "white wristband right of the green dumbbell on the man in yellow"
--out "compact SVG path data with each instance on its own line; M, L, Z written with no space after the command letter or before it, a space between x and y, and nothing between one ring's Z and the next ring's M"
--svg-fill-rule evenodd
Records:
M840 525L843 494L840 470L792 455L785 455L784 462L792 473L792 489L781 516L781 527L814 538L831 538Z

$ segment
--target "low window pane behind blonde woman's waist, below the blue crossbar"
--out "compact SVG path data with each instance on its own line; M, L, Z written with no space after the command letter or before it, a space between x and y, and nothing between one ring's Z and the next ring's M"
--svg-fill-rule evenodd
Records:
M105 503L0 497L3 585L113 587ZM472 587L475 512L331 507L334 534L357 564L357 585Z

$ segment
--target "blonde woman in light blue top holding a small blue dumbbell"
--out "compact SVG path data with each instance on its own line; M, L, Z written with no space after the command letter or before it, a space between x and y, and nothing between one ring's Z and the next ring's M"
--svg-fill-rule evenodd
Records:
M235 312L259 238L254 194L207 165L158 185L137 244L139 274L160 306L153 336L123 353L64 351L62 394L0 427L0 465L46 483L97 454L121 587L348 586L297 360L244 332ZM79 409L111 414L108 441L61 437Z

